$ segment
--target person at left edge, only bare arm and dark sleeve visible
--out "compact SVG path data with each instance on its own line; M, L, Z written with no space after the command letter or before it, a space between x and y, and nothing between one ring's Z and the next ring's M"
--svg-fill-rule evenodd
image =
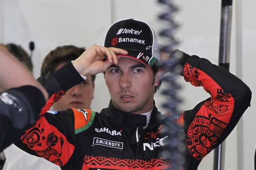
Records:
M0 68L1 152L34 124L48 95L31 72L2 47Z

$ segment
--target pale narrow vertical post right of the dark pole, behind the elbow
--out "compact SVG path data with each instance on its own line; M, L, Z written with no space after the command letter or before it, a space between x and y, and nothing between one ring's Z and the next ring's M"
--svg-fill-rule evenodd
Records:
M236 76L242 80L242 0L235 1L236 7ZM243 117L237 124L237 169L244 169Z

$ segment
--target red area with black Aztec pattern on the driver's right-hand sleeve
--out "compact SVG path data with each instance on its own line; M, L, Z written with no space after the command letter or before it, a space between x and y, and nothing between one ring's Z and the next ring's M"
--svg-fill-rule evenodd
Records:
M202 70L186 63L184 79L194 86L203 86L211 95L196 113L187 131L186 145L196 159L202 159L214 147L230 121L234 98Z

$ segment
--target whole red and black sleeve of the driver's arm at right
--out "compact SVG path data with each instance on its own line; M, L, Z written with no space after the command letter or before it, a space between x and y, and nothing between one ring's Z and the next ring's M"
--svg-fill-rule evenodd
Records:
M187 82L203 86L210 94L210 98L184 112L186 145L190 154L201 160L234 129L250 106L251 92L228 70L197 56L190 56L183 75Z

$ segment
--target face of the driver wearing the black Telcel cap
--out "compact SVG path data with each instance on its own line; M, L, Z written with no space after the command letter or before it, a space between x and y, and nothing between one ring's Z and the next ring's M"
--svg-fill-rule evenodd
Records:
M147 113L153 107L154 89L159 84L152 68L135 59L120 57L105 72L112 104L125 112Z

